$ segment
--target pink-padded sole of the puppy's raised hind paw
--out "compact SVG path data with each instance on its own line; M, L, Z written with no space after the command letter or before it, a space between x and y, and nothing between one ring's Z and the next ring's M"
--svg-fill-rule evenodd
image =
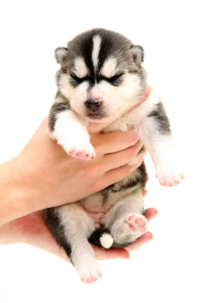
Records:
M131 214L126 218L126 222L130 230L144 233L147 229L147 220L142 215Z

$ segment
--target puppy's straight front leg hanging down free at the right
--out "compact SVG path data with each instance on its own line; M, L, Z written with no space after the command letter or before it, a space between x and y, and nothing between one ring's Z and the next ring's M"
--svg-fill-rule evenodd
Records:
M184 176L178 167L170 123L161 102L156 104L136 131L149 151L160 184L174 186L180 183Z

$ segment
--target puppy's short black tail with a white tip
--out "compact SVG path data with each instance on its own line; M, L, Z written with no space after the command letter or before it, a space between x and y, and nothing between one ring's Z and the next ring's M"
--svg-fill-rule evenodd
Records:
M104 248L110 248L114 242L109 229L106 227L95 229L88 240L90 243Z

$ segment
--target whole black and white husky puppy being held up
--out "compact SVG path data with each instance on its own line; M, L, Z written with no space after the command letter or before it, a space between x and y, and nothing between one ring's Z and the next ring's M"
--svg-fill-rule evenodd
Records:
M115 112L124 112L138 102L147 84L143 48L119 33L93 29L76 36L68 47L57 48L55 56L61 68L56 75L58 92L49 113L50 135L69 155L93 161L96 155L88 123L110 121ZM149 151L160 183L173 186L181 182L183 175L177 168L169 120L154 91L104 132L131 127ZM105 248L125 247L146 231L141 190L146 181L143 163L122 181L98 193L46 211L49 228L82 281L93 282L101 275L89 242ZM95 228L89 213L98 212L104 215Z

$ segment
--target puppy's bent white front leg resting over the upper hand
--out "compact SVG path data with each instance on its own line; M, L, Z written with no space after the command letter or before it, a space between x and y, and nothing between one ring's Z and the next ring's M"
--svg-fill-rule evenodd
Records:
M87 122L71 110L68 100L57 93L49 113L49 133L72 157L90 160L95 151L90 143Z

